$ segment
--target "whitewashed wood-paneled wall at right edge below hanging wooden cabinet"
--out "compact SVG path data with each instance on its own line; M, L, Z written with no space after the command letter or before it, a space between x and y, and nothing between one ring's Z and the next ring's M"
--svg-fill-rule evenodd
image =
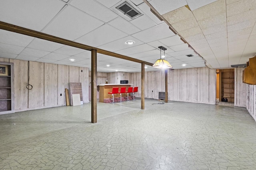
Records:
M256 85L246 84L246 108L256 121Z

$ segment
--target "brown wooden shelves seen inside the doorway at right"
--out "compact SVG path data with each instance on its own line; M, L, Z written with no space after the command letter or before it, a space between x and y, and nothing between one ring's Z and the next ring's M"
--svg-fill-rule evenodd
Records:
M227 98L228 102L234 102L235 97L234 69L220 70L220 101Z

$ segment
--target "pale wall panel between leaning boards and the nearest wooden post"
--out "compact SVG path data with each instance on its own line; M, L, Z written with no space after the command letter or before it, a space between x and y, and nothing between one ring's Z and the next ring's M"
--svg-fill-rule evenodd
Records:
M83 102L88 103L89 102L89 80L88 80L88 74L89 69L84 67L79 67L79 82L82 84L82 93L83 93Z

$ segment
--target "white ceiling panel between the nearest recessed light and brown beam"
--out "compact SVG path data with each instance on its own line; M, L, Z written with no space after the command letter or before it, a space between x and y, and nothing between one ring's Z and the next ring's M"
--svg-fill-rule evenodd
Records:
M128 49L116 51L116 53L122 54L122 55L131 55L131 54L142 53L144 51L150 51L154 49L155 49L154 47L151 47L148 44L142 44L135 47L130 47Z

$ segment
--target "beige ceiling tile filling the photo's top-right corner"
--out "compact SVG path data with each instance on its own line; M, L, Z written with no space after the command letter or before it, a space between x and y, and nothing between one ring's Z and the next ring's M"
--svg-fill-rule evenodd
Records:
M246 0L246 1L240 0L232 4L228 4L226 8L227 8L227 16L233 16L236 14L247 12L249 10L256 9L256 3L255 3L255 0Z

